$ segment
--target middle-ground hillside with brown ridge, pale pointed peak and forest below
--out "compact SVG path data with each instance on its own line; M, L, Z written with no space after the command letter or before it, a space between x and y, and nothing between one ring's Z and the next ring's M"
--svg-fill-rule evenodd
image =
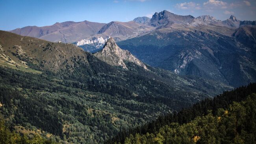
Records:
M120 130L232 89L153 68L113 38L91 54L0 31L0 65L0 117L28 140L39 135L60 143L104 143Z

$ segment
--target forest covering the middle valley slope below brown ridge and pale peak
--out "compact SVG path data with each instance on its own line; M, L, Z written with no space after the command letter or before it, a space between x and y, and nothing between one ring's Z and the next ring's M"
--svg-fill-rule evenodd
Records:
M130 70L111 67L92 54L87 59L74 56L74 65L41 75L0 67L0 112L11 123L52 133L56 140L102 143L122 129L229 88L152 67L145 71L133 63L127 63Z

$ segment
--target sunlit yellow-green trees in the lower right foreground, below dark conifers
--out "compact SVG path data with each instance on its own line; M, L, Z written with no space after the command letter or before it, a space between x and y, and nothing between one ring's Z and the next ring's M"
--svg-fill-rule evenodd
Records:
M196 117L179 125L172 122L154 133L130 135L124 144L254 144L256 142L256 94L216 114Z

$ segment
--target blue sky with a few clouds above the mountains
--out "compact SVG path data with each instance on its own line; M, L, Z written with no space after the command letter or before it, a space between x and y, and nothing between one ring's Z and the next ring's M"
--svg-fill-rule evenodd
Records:
M256 20L256 0L0 0L0 30L74 21L127 22L163 10L180 15L211 15L225 20Z

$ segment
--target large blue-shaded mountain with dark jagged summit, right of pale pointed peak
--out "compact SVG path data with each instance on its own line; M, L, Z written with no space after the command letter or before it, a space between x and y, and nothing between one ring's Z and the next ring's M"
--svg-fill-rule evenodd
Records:
M212 16L194 18L162 11L147 23L156 29L118 45L153 67L219 79L237 87L256 81L254 24L235 16L220 21Z

